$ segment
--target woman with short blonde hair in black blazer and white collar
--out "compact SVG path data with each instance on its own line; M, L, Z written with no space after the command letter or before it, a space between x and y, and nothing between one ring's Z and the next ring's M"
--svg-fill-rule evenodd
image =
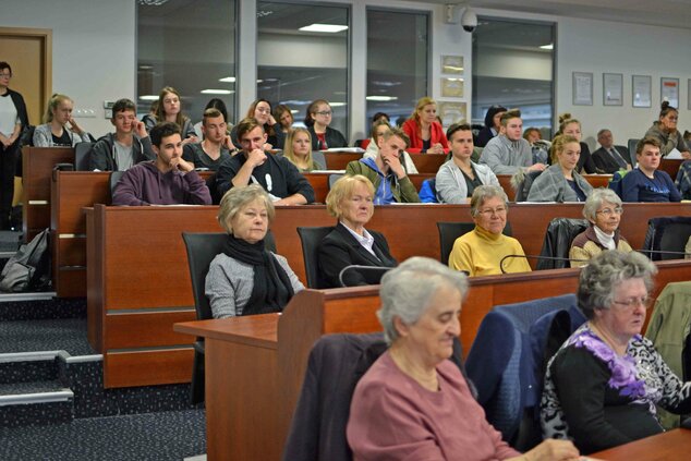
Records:
M338 219L336 229L324 238L317 251L322 288L341 287L339 275L351 265L395 267L386 238L367 231L365 225L374 214L374 185L362 174L346 175L336 181L326 196L326 209ZM376 284L380 274L350 270L343 282L348 287Z

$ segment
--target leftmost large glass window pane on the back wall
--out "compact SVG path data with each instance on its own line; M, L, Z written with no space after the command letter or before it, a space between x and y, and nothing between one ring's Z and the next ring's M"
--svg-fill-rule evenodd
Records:
M168 0L137 3L137 107L149 111L150 99L172 86L182 111L202 120L211 98L226 102L234 122L235 1ZM148 3L157 3L150 1Z

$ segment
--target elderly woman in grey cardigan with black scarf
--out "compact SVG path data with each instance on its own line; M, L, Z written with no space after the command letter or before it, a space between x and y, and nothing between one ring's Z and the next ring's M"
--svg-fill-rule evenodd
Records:
M281 312L295 292L304 290L286 258L264 247L274 216L274 204L258 184L223 195L218 222L228 241L206 276L214 318Z

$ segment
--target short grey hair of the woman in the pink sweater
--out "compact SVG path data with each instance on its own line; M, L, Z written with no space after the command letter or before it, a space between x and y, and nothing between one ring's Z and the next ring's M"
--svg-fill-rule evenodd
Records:
M377 316L389 345L399 338L393 318L399 317L405 325L415 324L441 287L457 289L464 299L468 277L436 259L421 256L411 257L384 275L379 289L381 308Z

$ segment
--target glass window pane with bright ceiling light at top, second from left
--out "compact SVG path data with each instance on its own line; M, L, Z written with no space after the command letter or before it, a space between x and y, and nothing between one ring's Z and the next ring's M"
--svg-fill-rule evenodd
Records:
M340 27L301 31L313 24ZM303 125L310 102L326 99L329 126L348 139L348 25L346 7L257 2L257 97L290 107L295 125Z

